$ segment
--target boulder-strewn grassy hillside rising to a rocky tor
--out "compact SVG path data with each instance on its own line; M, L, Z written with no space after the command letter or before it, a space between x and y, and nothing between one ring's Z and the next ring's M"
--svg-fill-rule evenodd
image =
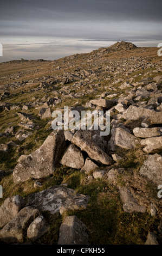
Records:
M161 63L122 41L0 64L1 243L161 243ZM109 110L111 133L53 131L64 106Z

